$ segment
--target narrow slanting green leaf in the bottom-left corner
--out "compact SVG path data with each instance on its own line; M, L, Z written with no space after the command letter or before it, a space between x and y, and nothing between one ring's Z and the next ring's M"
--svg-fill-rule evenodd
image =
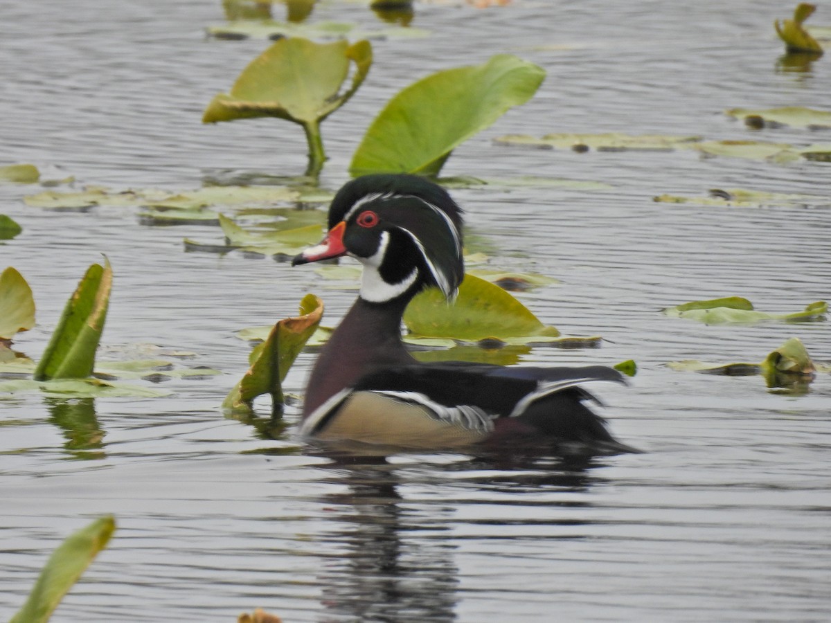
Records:
M22 609L10 623L46 623L61 599L90 563L106 547L116 520L111 515L96 519L74 532L52 552Z

